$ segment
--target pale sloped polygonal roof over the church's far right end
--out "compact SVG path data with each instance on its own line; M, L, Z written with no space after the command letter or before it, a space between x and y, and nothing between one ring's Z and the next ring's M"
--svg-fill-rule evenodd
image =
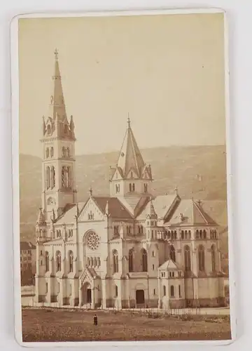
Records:
M170 225L217 225L195 200L181 200L169 218Z

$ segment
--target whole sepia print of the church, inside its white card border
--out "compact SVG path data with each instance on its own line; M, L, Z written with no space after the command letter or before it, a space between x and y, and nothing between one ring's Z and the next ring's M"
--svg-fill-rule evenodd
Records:
M25 345L232 340L225 21L18 18Z

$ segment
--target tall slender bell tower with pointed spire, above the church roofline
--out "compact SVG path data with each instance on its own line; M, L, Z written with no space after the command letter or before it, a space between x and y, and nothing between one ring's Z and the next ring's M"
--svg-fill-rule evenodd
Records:
M55 50L48 117L43 117L42 209L46 222L64 212L67 204L76 203L75 133L73 117L66 117L66 106Z

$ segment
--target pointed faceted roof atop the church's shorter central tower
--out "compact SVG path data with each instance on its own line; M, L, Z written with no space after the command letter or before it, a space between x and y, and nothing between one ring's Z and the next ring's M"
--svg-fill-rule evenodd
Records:
M120 150L117 166L120 167L123 177L126 177L130 171L134 171L134 173L140 178L145 163L137 145L137 141L134 138L129 118L127 124L128 127L125 133L125 138L123 139L123 145Z

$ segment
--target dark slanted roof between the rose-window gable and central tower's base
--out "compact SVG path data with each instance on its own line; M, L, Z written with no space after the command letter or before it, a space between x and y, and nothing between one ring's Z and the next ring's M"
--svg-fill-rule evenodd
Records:
M117 197L92 197L102 213L106 213L106 205L109 204L109 214L112 218L131 219L132 214L119 201Z

